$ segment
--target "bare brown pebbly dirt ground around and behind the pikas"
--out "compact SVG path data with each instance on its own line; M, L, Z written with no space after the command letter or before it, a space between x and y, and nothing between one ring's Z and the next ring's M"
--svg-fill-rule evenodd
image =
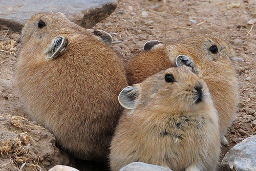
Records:
M239 57L240 103L226 136L229 143L222 148L222 159L232 146L256 135L256 26L252 19L256 24L256 0L120 0L116 11L95 28L111 33L111 46L124 62L142 52L147 40L169 42L209 32L230 42ZM20 33L0 28L0 112L26 116L13 77Z

